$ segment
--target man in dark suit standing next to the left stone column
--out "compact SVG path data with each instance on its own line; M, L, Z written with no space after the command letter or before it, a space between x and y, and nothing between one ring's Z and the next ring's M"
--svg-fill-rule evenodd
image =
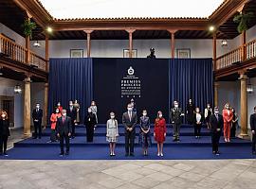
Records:
M41 135L42 135L42 118L43 118L43 110L40 109L40 104L36 103L36 108L33 110L32 112L32 119L34 122L34 139L36 139L37 137L39 137L41 139ZM37 133L37 130L39 131L39 133Z

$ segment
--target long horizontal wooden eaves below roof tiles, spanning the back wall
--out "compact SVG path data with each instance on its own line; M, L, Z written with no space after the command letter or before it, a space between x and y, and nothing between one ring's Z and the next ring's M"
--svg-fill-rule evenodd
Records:
M205 30L207 19L155 19L155 20L73 20L55 21L54 30Z

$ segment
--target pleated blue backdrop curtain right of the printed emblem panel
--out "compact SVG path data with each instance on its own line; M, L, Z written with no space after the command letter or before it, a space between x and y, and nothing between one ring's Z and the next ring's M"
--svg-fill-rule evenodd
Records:
M190 98L201 112L207 103L213 104L212 59L169 60L170 104L180 103L185 112Z

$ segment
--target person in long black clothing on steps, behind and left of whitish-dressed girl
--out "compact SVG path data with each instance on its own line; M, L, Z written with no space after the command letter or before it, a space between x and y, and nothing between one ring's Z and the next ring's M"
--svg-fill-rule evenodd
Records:
M93 142L94 126L97 124L97 121L91 108L88 108L88 112L84 117L83 124L86 127L87 142Z

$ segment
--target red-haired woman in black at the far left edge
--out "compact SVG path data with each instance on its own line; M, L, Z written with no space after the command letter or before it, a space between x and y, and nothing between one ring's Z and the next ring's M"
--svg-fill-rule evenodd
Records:
M0 155L3 155L4 147L4 156L8 156L7 142L9 137L9 118L8 113L5 111L1 111L0 114Z

